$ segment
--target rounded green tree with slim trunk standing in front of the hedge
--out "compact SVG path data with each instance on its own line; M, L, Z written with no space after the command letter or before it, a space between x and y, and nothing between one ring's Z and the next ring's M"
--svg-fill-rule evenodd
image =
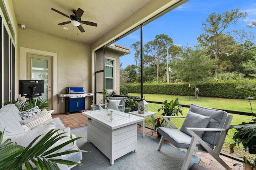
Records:
M208 77L209 70L214 66L213 61L206 55L206 50L184 47L174 66L182 80L194 86L195 99L197 99L196 85Z

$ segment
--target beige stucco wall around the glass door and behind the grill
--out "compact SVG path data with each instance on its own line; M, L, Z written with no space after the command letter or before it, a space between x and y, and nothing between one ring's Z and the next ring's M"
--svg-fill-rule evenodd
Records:
M78 35L74 34L74 36ZM84 87L86 93L92 92L89 45L28 28L18 28L18 63L20 60L20 47L58 54L58 94L64 94L66 87ZM92 97L86 97L86 109L90 109L91 100ZM54 102L57 102L56 98ZM54 109L56 110L56 108ZM65 102L63 101L63 103L58 104L56 113L64 112Z

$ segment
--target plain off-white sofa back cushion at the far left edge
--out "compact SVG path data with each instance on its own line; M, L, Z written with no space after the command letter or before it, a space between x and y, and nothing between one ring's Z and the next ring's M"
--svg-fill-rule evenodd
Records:
M5 135L24 133L25 130L20 124L21 117L18 108L14 104L5 105L0 109L0 131Z

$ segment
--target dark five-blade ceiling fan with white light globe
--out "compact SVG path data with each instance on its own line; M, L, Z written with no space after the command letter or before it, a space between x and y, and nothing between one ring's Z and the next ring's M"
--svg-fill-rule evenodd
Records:
M78 10L73 10L72 15L67 16L66 14L63 14L62 12L55 10L54 8L51 8L51 10L58 12L59 14L69 18L71 21L66 21L66 22L62 22L62 23L58 23L58 25L65 25L68 23L72 23L74 26L78 27L78 29L83 33L84 32L84 28L82 27L82 25L80 25L80 23L86 24L86 25L91 25L94 27L97 27L97 23L94 22L89 22L89 21L81 21L81 16L83 15L84 11L81 10L80 8L78 8Z

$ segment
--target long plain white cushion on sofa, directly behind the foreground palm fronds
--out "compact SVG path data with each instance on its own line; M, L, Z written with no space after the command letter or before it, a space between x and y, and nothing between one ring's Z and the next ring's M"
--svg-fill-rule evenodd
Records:
M28 132L19 133L15 135L4 135L2 142L6 141L7 139L11 139L11 142L16 142L17 145L21 145L23 147L28 147L28 145L39 135L40 136L35 143L37 143L40 139L42 139L43 135L48 133L51 129L56 129L55 123L49 123L46 126L42 126ZM34 144L35 144L34 143Z

